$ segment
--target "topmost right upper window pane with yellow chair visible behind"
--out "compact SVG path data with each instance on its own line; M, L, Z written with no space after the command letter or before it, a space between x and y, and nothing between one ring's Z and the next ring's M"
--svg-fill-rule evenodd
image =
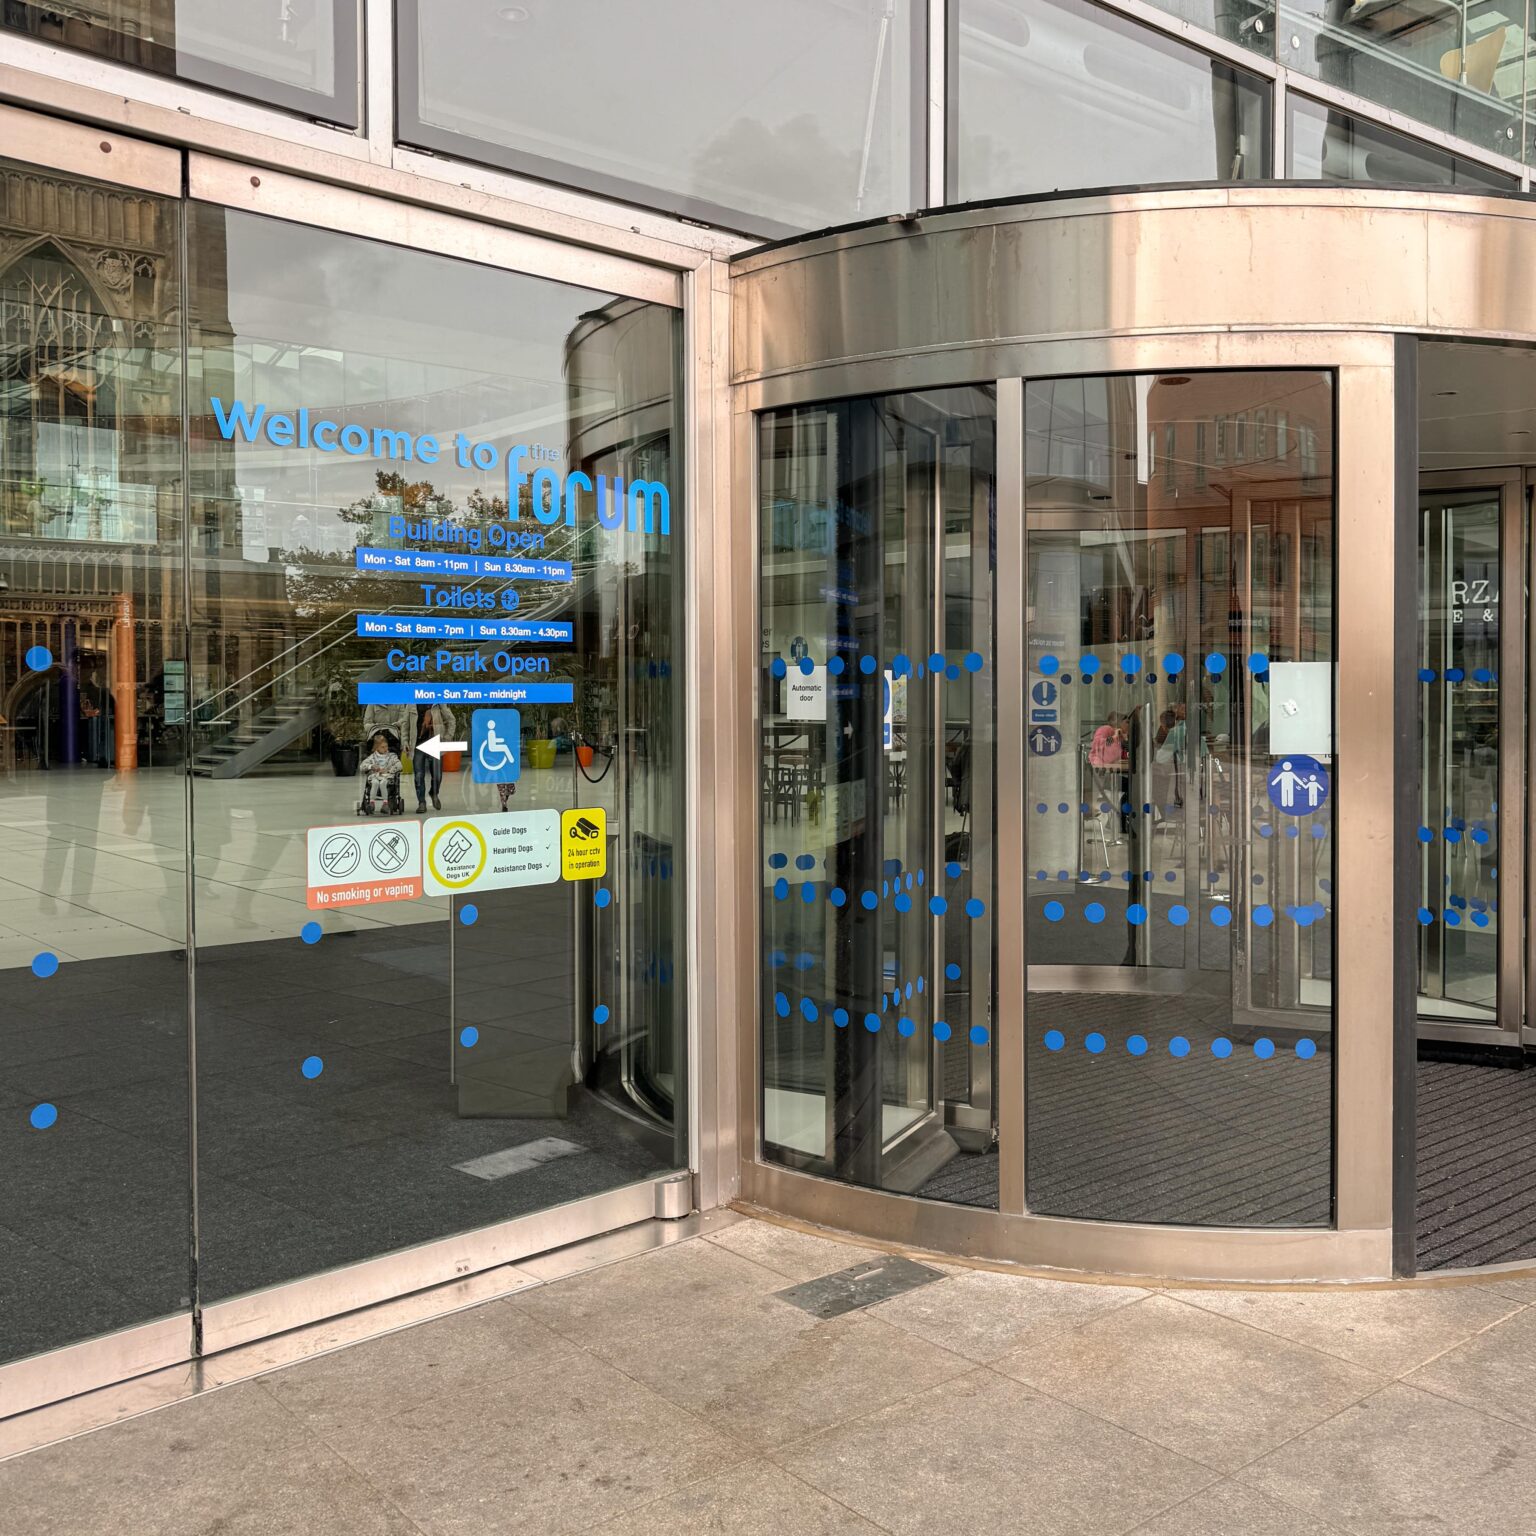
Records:
M1281 0L1279 63L1518 160L1525 9L1508 0Z

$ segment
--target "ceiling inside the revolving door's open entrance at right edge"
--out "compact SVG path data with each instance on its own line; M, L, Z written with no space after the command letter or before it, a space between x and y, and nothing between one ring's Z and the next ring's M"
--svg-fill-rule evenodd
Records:
M1419 468L1536 464L1536 347L1419 344Z

